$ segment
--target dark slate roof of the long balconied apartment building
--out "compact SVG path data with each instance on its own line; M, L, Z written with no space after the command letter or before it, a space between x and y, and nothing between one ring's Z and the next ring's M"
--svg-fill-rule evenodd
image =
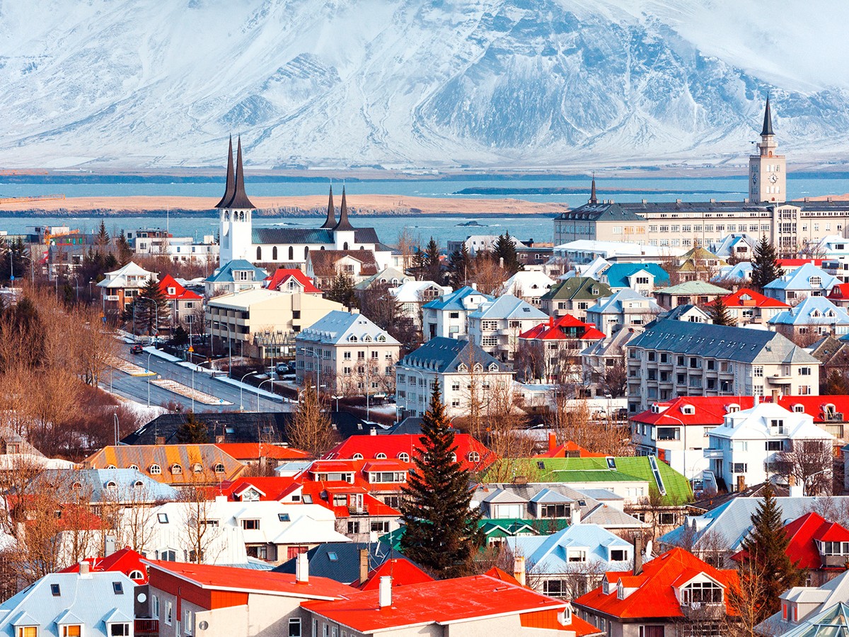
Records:
M721 358L739 363L818 364L818 360L804 349L775 332L689 321L658 321L635 336L628 347Z

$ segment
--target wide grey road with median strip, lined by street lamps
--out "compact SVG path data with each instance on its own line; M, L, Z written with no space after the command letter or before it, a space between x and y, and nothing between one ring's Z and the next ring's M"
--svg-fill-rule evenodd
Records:
M176 363L171 363L163 358L156 356L148 356L147 353L133 355L130 353L130 346L121 343L119 358L124 358L131 363L137 364L144 369L150 369L161 378L171 379L182 383L187 387L192 386L192 376L194 375L194 388L200 392L211 394L212 396L222 398L223 400L233 403L230 405L207 405L194 401L194 409L197 412L222 412L222 411L238 411L239 405L244 406L245 411L290 411L289 403L280 403L279 401L271 400L267 397L257 397L255 391L245 388L239 392L238 386L229 385L223 381L217 381L203 371L192 373L192 369L182 367ZM148 367L149 361L149 367ZM130 398L138 403L148 403L148 392L151 405L161 405L174 401L183 403L186 409L192 408L192 399L190 397L181 396L174 392L169 392L162 387L148 383L148 379L155 379L155 376L131 376L121 372L119 369L110 369L112 378L109 375L104 378L104 389L111 386L111 389L120 396ZM108 373L109 374L109 373ZM238 380L238 379L236 379ZM268 389L268 383L263 386L263 390Z

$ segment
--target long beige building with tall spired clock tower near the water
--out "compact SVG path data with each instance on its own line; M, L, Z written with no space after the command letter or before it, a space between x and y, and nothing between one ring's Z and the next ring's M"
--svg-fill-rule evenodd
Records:
M644 253L665 248L672 253L711 245L729 234L747 234L755 239L766 235L779 255L797 256L826 236L846 236L849 201L788 200L787 163L778 152L768 97L759 123L761 140L749 157L745 200L617 202L599 199L593 175L587 203L554 217L554 245L602 241L648 246Z

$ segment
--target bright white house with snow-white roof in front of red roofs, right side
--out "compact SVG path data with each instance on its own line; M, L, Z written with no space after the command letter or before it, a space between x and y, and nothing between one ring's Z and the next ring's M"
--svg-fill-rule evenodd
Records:
M717 482L725 482L728 491L739 491L775 478L775 463L782 452L798 450L806 441L830 449L835 437L814 425L813 417L804 412L759 403L751 409L730 409L722 426L708 432L708 439L705 457ZM830 463L825 471L830 475Z

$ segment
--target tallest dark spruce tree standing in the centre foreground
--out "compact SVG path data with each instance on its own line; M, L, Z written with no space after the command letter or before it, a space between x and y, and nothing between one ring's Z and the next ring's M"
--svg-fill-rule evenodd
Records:
M469 471L453 459L454 432L439 386L422 421L421 454L403 487L401 504L405 555L441 578L468 574L483 544L481 513L469 510Z

